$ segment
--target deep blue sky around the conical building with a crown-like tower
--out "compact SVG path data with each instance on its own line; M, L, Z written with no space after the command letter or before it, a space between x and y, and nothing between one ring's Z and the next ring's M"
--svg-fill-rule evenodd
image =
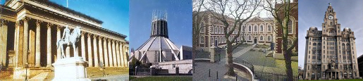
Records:
M130 49L137 49L151 34L152 11L168 13L168 35L178 48L192 46L192 0L131 0Z

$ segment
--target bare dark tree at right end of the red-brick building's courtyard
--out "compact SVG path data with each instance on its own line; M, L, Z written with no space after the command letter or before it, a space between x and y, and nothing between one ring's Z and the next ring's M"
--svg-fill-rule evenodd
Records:
M293 39L293 44L288 46L288 43L283 43L283 56L285 58L286 75L288 80L293 80L293 68L291 68L291 56L293 55L293 48L297 43L297 37L289 36L288 25L290 16L292 15L292 8L297 7L296 4L291 4L290 0L266 0L264 10L268 11L275 19L275 24L282 33L283 42L288 42L288 38ZM297 9L296 9L297 10ZM280 33L280 32L278 32Z

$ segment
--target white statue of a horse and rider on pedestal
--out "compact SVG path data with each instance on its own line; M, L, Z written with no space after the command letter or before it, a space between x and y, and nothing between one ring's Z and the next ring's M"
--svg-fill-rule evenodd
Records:
M70 33L68 26L66 26L66 28L63 31L62 39L57 40L57 43L56 43L57 49L59 48L59 46L61 47L61 58L66 57L66 56L64 56L63 45L66 45L66 46L72 45L73 51L75 51L75 48L76 48L75 43L79 41L80 34L81 34L80 27L75 27L75 29L72 31L72 33ZM78 55L78 52L74 52L74 55Z

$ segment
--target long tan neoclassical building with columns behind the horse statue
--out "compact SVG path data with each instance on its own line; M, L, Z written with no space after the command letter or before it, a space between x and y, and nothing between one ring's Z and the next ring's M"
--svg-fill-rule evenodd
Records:
M79 48L64 47L66 57L80 56L88 61L88 67L99 67L99 63L128 67L126 36L101 27L101 20L47 0L7 0L1 11L0 62L13 68L14 75L25 65L51 70L51 64L61 57L56 40L67 25L70 31L80 26L82 34Z

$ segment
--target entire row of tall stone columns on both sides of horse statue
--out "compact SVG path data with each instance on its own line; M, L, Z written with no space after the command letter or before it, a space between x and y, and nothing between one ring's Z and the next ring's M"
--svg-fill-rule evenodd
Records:
M61 39L61 27L60 25L54 26L52 23L46 23L47 28L47 43L41 42L41 28L42 28L42 20L36 20L36 28L35 28L35 36L34 32L29 32L30 28L28 26L28 21L31 20L31 18L23 18L22 20L18 20L16 22L15 27L15 35L14 35L14 50L16 51L16 66L23 66L25 63L34 64L35 67L41 67L41 58L46 58L47 67L51 67L52 63L52 46L55 46L56 42L52 42L51 39L51 28L56 28L56 40ZM45 27L44 27L45 28ZM87 35L86 35L87 34ZM29 58L28 57L28 50L33 49L30 48L30 37L35 37L35 58ZM87 45L85 43L85 37L87 37ZM42 38L45 39L45 38ZM91 40L93 39L93 41ZM81 56L86 61L88 61L88 64L90 67L99 67L99 63L103 63L106 67L128 67L127 64L127 57L125 51L126 43L118 41L117 39L111 39L107 37L102 37L100 35L95 35L91 33L87 33L82 31L82 35L80 37L81 42L80 43L80 49L81 49ZM98 44L97 44L98 42ZM103 42L103 44L102 44ZM34 43L32 43L34 44ZM42 44L47 44L46 50L46 56L47 57L41 57L41 46ZM87 52L86 52L87 47ZM93 47L93 48L92 48ZM76 49L78 52L78 48ZM32 51L32 50L30 50ZM55 52L54 52L55 53ZM73 56L78 56L77 54ZM86 56L88 56L86 59ZM70 46L66 46L66 57L70 57ZM28 58L32 61L28 61ZM61 58L61 49L56 49L56 58L54 60ZM35 61L33 61L35 59ZM34 66L33 65L33 66Z

